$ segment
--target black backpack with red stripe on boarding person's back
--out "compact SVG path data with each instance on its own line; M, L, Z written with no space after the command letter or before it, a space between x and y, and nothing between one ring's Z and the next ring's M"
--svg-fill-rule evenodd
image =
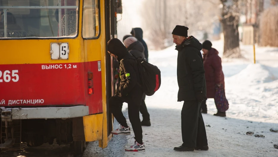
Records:
M133 55L134 56L134 55ZM135 57L135 56L134 56ZM137 83L148 96L153 95L160 87L161 76L157 66L146 62L146 58L136 58L138 70L140 74L141 84Z

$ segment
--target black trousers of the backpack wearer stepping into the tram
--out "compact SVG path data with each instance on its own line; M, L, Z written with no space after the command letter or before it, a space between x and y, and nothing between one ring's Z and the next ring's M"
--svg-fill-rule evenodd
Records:
M127 126L127 120L124 117L121 107L123 105L124 101L120 100L116 96L113 96L109 99L109 109L112 112L113 116L116 118L116 120L122 125L122 126ZM128 105L128 116L129 116L129 121L131 123L134 135L135 135L135 140L142 144L143 143L143 131L142 131L142 126L141 126L141 121L139 117L139 108L140 108L140 101L135 102L135 101L130 101L127 103Z

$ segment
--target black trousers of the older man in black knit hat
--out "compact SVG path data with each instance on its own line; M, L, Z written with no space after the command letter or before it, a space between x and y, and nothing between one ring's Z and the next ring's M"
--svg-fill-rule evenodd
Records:
M197 100L184 101L181 110L181 135L184 147L195 148L208 145L201 103Z

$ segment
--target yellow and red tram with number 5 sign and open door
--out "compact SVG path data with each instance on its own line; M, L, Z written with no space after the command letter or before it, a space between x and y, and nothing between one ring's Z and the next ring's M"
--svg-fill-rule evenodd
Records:
M0 0L2 150L111 137L119 0ZM121 10L120 10L121 11Z

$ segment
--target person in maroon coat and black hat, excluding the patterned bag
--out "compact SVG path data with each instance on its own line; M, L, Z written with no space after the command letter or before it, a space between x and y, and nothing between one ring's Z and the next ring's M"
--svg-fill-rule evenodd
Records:
M216 92L216 86L223 85L225 89L224 73L222 71L221 58L218 56L218 51L211 48L212 44L209 40L206 40L202 44L203 56L204 56L204 68L206 77L206 91L207 98L214 98ZM207 113L206 101L202 102L202 113ZM225 112L217 111L214 116L225 117Z

